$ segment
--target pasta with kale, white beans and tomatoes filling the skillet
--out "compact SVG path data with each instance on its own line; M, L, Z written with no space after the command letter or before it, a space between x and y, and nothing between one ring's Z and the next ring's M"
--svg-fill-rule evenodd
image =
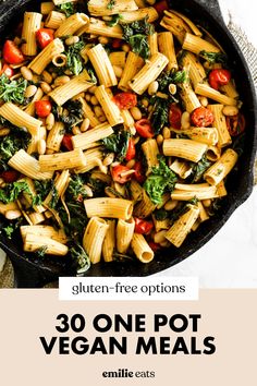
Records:
M1 50L1 231L78 274L180 248L230 194L242 105L221 46L166 1L42 2Z

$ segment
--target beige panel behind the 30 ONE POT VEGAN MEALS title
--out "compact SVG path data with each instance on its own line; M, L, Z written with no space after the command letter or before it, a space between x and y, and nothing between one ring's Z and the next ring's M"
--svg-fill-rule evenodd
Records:
M60 302L57 290L0 290L0 383L14 386L42 385L161 385L256 386L257 290L200 290L196 302ZM146 313L150 336L154 313L201 313L198 341L216 337L213 355L134 355L138 334L128 336L127 355L46 355L39 336L52 337L60 313L82 313L88 322L89 341L98 333L90 321L98 313ZM72 335L72 334L71 334ZM81 334L79 334L81 335ZM112 334L115 335L118 334ZM169 328L162 336L172 336ZM183 334L186 337L186 334ZM189 331L189 335L191 331ZM107 339L108 334L106 335ZM199 345L200 346L200 345ZM102 378L118 369L155 371L155 378Z

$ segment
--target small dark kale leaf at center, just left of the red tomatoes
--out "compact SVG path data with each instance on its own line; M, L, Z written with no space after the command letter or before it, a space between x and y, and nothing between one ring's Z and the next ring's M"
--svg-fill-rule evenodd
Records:
M117 130L113 134L103 138L101 143L107 152L115 153L115 159L118 161L122 161L126 156L130 137L131 134L122 129Z

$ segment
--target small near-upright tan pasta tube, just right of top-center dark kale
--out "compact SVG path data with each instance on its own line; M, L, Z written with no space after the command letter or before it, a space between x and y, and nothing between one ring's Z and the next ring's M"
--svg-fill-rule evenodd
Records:
M159 51L169 59L167 70L178 70L179 65L176 61L173 35L171 32L163 32L158 34L158 47Z

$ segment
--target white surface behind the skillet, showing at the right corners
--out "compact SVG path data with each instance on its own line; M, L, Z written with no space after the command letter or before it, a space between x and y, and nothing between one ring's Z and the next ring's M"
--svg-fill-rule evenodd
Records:
M256 0L220 0L257 47ZM0 251L0 272L3 253ZM197 253L156 276L198 276L203 288L257 288L257 188L220 232Z

